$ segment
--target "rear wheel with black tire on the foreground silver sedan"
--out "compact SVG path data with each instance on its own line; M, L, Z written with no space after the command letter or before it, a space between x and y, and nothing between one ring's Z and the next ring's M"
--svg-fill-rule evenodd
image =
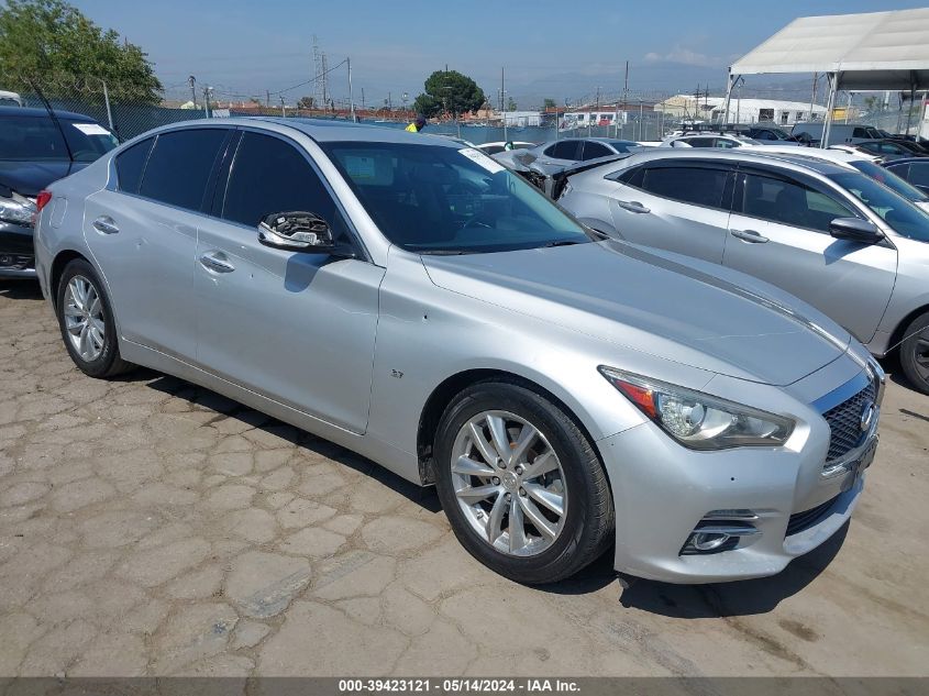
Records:
M71 261L55 297L62 340L82 373L106 378L135 367L120 357L112 305L93 266L84 258Z

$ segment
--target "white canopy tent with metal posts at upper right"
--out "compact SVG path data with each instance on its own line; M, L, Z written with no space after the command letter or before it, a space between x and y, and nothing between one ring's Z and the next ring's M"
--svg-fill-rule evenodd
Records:
M827 75L825 147L839 89L929 90L929 8L794 20L729 68L723 113L743 75L776 73Z

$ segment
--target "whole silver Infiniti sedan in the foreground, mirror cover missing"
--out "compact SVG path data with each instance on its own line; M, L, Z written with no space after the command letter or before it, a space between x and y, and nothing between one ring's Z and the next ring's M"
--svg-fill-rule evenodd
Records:
M167 372L434 484L507 577L610 545L642 577L771 575L861 496L884 378L848 332L607 240L476 150L218 119L49 190L40 280L80 369Z

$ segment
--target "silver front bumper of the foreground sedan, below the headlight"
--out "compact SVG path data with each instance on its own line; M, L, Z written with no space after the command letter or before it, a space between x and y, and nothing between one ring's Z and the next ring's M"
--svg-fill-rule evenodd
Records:
M825 473L830 430L810 416L785 448L698 452L651 422L599 441L616 507L616 570L670 583L749 579L826 542L861 496L877 418L843 457L848 466ZM687 543L696 529L727 527L751 531L712 552Z

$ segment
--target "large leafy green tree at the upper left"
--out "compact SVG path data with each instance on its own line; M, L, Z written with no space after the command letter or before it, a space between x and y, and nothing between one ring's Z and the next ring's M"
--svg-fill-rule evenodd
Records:
M158 103L162 84L141 47L97 26L64 0L7 0L0 7L0 76L7 89L46 96L101 93L117 101Z

